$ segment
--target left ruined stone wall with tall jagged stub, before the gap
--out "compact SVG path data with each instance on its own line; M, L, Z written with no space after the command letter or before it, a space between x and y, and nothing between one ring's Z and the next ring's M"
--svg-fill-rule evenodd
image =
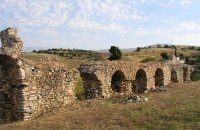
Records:
M77 70L56 59L23 58L15 28L1 31L0 38L0 123L29 120L75 100Z

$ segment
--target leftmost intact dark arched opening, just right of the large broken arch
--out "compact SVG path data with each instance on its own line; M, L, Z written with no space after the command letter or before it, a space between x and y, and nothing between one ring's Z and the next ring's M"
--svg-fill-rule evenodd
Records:
M113 74L112 80L111 80L112 90L118 93L122 92L124 80L125 80L124 73L120 70L116 71Z

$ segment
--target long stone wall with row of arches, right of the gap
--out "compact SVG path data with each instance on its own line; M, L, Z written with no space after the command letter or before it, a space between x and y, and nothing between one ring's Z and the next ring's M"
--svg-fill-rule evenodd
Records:
M189 82L193 68L180 62L135 64L130 61L90 62L79 68L86 98L144 93L171 82Z

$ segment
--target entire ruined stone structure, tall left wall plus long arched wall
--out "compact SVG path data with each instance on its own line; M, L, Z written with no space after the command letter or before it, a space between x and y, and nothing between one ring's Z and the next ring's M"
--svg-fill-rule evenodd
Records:
M0 123L30 120L70 104L75 100L74 83L79 74L87 98L109 98L116 93L143 93L171 82L188 82L193 70L174 61L99 61L82 64L79 73L56 59L25 59L15 28L1 31L0 38Z

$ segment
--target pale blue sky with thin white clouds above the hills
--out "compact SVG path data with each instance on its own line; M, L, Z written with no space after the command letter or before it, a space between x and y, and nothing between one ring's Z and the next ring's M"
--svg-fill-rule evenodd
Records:
M200 46L200 0L1 0L9 26L25 47Z

